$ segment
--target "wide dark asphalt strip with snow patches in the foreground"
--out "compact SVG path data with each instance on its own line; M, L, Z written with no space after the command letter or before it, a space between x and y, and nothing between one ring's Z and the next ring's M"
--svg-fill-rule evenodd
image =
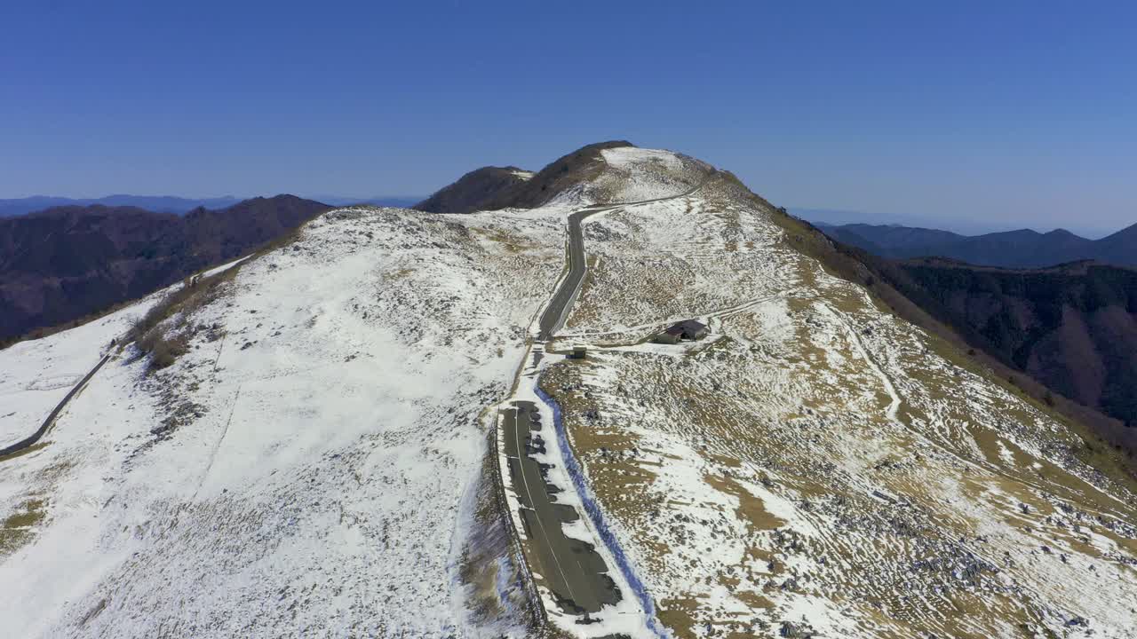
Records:
M521 521L530 547L532 572L545 578L562 611L582 615L595 613L605 604L621 599L620 590L608 578L608 566L588 542L565 537L562 523L580 518L576 509L557 504L559 489L546 478L547 468L531 455L543 451L542 431L556 437L531 401L515 401L503 418L501 437L509 464L509 476L521 500Z

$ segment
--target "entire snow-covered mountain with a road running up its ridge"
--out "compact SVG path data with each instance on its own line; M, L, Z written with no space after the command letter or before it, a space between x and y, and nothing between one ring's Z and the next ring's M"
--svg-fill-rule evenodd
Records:
M729 173L558 163L0 351L0 447L109 355L0 458L5 634L1137 634L1115 451Z

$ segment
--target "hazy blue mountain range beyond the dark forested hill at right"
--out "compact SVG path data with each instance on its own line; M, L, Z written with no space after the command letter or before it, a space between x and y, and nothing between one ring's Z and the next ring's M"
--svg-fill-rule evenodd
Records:
M1022 229L961 235L902 225L843 224L820 227L835 240L894 259L945 257L1006 268L1040 268L1085 259L1137 266L1137 224L1101 240L1088 240L1062 229L1049 233Z

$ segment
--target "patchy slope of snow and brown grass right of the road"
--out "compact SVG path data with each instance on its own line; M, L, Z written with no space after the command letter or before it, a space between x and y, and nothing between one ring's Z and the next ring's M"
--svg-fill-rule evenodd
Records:
M1137 498L1053 415L729 181L586 224L589 357L542 387L675 636L1137 636Z

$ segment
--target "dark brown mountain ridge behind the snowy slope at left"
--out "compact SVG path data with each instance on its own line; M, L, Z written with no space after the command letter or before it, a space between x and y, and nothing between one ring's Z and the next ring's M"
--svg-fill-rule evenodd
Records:
M0 219L0 340L144 296L327 208L276 196L182 216L91 205Z

